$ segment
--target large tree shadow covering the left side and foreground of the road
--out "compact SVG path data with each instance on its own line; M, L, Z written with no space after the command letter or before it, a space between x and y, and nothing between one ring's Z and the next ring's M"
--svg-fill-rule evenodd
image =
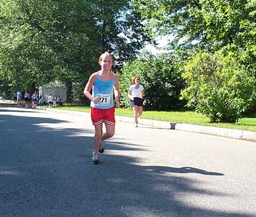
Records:
M222 173L193 167L141 166L133 157L109 153L105 153L104 163L91 165L93 129L71 128L68 122L52 118L5 115L6 111L0 110L3 217L252 216L183 202L189 193L232 195L195 187L200 183L175 174L218 177ZM60 123L67 125L49 127ZM133 151L143 148L129 141L123 145ZM123 147L112 142L111 148L120 151ZM171 175L166 177L166 173Z

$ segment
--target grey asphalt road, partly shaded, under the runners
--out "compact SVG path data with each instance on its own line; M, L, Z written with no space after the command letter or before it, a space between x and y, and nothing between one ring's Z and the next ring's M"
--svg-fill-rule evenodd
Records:
M0 216L256 216L256 143L0 104Z

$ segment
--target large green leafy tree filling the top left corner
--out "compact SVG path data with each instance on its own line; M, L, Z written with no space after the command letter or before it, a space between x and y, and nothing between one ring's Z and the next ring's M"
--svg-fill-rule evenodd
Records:
M82 55L95 52L92 37L80 33L93 34L92 16L68 1L1 1L1 17L2 72L20 88L76 79ZM91 59L86 64L93 65Z

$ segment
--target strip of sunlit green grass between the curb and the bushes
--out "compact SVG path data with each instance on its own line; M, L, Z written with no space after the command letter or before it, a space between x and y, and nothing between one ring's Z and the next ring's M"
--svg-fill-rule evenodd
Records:
M90 107L80 105L64 105L63 107L54 107L54 109L76 110L80 112L90 112ZM131 108L116 108L117 116L133 117ZM256 118L241 118L234 124L229 123L210 123L209 118L194 111L143 111L141 118L151 120L162 120L175 123L198 124L204 126L216 126L221 128L231 128L237 130L249 130L256 132Z

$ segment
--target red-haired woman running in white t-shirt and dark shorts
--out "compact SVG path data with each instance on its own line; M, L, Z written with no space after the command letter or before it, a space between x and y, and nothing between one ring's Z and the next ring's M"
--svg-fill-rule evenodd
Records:
M138 126L138 118L143 112L143 97L145 96L145 89L143 85L140 84L141 79L138 76L133 77L133 85L129 88L128 97L131 102L131 107L133 108L133 117L135 121L135 126Z

